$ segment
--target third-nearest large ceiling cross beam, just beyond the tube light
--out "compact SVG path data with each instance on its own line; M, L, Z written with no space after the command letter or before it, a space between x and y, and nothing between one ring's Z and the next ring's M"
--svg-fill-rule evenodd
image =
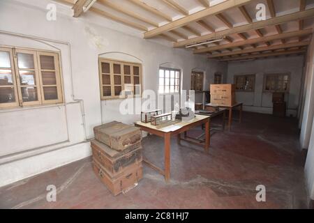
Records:
M195 50L194 53L195 54L202 54L202 53L214 51L216 49L225 49L225 48L233 48L233 47L239 47L239 46L244 46L244 45L251 45L251 44L255 44L255 43L264 43L264 42L271 41L271 40L280 40L282 38L306 36L306 35L310 35L312 32L313 32L312 29L305 29L302 31L292 31L292 32L276 34L276 35L272 35L272 36L264 36L262 38L254 38L254 39L238 41L238 42L234 42L234 43L228 43L228 44L219 45L216 47L207 47L204 49L197 49L197 50Z

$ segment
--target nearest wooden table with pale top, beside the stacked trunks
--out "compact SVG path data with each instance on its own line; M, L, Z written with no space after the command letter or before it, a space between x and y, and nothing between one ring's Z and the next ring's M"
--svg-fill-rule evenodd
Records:
M205 125L205 140L204 144L200 142L199 139L193 139L192 137L187 137L186 132L192 128L197 127L198 125ZM143 160L149 167L155 169L160 174L165 176L165 181L170 180L170 143L171 137L173 135L177 135L177 143L180 144L181 140L188 141L192 144L196 144L198 146L204 146L204 151L209 152L209 116L203 115L195 115L195 118L190 122L179 122L173 125L169 125L163 128L157 128L151 123L142 123L141 121L137 121L135 126L140 128L143 131L149 132L151 134L156 134L158 137L164 138L164 151L165 151L165 170L156 167L154 164L148 162L148 160ZM184 132L184 138L181 138L181 133Z

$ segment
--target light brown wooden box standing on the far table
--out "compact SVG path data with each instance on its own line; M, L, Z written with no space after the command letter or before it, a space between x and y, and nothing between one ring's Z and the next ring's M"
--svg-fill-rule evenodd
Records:
M236 104L234 84L211 84L211 104L232 106Z

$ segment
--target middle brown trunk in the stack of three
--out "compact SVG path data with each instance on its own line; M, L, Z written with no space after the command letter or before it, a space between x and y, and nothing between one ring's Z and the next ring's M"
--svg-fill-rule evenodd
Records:
M122 152L118 152L99 141L91 141L93 158L106 169L111 177L121 175L126 168L138 165L142 162L142 144L130 146Z

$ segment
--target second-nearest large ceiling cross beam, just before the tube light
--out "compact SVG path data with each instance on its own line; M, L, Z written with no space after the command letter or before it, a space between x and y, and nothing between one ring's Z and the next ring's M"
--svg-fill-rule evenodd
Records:
M213 6L214 7L214 6ZM174 43L174 47L184 47L186 45L200 43L212 38L220 38L221 36L229 36L234 33L244 33L246 31L250 31L253 29L262 29L267 26L275 26L276 24L283 24L286 22L294 21L294 20L304 20L307 18L314 17L314 9L304 10L303 12L291 13L288 15L282 15L278 17L271 18L269 20L262 20L259 22L253 22L251 24L245 24L242 26L236 26L232 29L225 29L223 31L218 31L216 33L206 34L197 38L190 38L189 40L180 41L178 43ZM158 28L157 28L158 29Z

